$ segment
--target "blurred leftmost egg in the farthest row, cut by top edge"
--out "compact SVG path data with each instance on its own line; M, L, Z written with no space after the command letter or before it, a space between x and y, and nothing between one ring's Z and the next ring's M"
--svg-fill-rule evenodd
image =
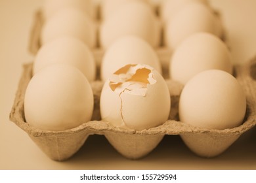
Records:
M62 8L77 8L87 13L92 18L96 16L93 0L45 0L43 4L43 16L48 20Z

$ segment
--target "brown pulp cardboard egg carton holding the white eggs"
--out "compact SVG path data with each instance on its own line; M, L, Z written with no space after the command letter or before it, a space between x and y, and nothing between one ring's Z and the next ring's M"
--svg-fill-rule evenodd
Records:
M30 52L32 54L36 54L39 49L39 35L42 24L41 12L38 11L35 14L30 39ZM120 154L129 159L138 159L146 156L146 154L158 146L164 135L181 135L182 140L192 152L202 157L213 157L224 152L240 135L256 125L256 57L251 59L247 64L234 68L234 75L238 79L238 82L242 84L247 98L247 112L244 123L232 129L218 130L203 129L179 122L178 105L183 86L179 82L168 78L167 68L171 51L167 48L158 48L156 52L160 58L163 67L163 77L167 82L171 95L169 120L163 125L136 131L133 129L120 129L119 127L114 127L103 122L100 118L99 108L100 92L103 82L97 79L91 82L95 108L93 118L90 122L85 122L73 129L64 131L46 131L32 127L26 123L26 119L24 118L24 94L28 82L32 78L33 62L24 64L23 74L20 78L14 104L11 109L10 119L18 127L26 131L30 138L49 158L57 161L63 161L72 157L83 146L89 135L104 135ZM93 50L93 54L99 73L103 52L99 48L96 48Z

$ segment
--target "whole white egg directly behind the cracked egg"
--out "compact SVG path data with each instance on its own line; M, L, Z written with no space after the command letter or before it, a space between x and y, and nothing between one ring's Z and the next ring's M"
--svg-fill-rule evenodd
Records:
M146 64L161 74L161 63L155 50L140 37L128 35L117 39L105 52L101 79L106 81L117 69L127 64Z

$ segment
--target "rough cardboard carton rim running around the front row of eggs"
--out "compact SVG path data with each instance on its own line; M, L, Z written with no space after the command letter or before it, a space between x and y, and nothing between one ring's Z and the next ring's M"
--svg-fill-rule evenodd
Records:
M255 62L255 59L253 62ZM244 74L249 74L249 65L252 64L252 61L249 62L249 64L245 66L238 66L236 67L238 80L245 80L244 82L247 82L249 80L249 83L251 86L256 87L256 82L252 80L249 76L243 76ZM112 131L114 133L125 133L125 134L134 134L134 135L181 135L181 134L187 134L187 133L207 133L211 135L240 135L244 133L245 131L251 129L256 125L256 111L255 111L255 95L253 93L246 93L247 95L247 112L245 115L245 122L238 126L233 127L230 129L203 129L200 127L194 127L192 125L186 124L184 122L176 121L176 120L167 120L164 124L158 126L158 127L152 127L150 129L144 129L140 131L136 131L133 129L121 129L119 127L113 127L112 125L107 124L106 122L103 122L102 120L97 121L93 120L90 122L85 122L77 127L74 127L72 129L66 129L63 131L47 131L47 130L41 130L36 127L32 127L29 124L26 123L24 118L24 94L26 92L26 86L28 82L30 81L30 78L32 77L32 65L33 63L26 63L23 65L23 73L20 78L20 82L18 84L18 90L16 92L16 96L14 99L14 103L11 109L10 113L10 120L14 122L16 125L18 125L20 128L22 128L24 131L26 131L28 134L33 135L35 137L37 136L51 136L51 135L65 135L65 134L72 134L72 133L78 133L80 131L89 131L91 134L98 134L98 135L104 135L106 131ZM248 86L247 83L244 83L245 86ZM242 84L244 88L244 84ZM249 86L249 91L253 92L253 89ZM248 98L248 95L251 95L252 99L254 101L248 101L251 98Z

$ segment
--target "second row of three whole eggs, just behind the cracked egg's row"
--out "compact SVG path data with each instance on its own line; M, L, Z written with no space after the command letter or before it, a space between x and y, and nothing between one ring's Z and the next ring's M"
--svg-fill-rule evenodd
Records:
M41 46L35 56L33 74L52 63L69 63L77 67L89 82L100 74L106 81L120 67L142 63L163 73L156 50L140 37L128 35L117 39L103 54L100 73L96 73L95 56L83 41L60 37ZM232 73L232 58L226 44L210 33L195 33L185 39L169 58L169 78L185 84L205 69Z

